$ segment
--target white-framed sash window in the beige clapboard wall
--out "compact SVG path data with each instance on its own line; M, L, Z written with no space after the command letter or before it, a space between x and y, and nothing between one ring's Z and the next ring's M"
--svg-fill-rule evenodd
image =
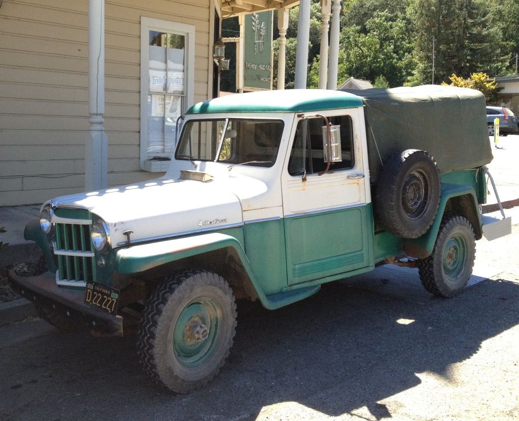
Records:
M165 171L194 102L195 26L141 18L141 168Z

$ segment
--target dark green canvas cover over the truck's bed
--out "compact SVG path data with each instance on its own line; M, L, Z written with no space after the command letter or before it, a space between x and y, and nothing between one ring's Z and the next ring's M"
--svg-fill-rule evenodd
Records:
M428 151L442 174L493 159L480 91L439 85L344 91L360 96L365 105L372 183L382 165L405 149Z

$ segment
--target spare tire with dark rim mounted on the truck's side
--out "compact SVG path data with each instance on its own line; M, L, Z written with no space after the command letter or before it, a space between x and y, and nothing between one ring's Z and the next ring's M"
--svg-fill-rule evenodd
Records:
M386 231L404 238L425 234L440 204L440 171L434 158L416 149L394 156L378 176L375 201Z

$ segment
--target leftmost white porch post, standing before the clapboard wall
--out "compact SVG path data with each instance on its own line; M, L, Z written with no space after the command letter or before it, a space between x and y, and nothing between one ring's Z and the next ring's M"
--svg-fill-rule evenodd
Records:
M88 112L85 189L108 186L108 138L104 131L104 0L88 0Z

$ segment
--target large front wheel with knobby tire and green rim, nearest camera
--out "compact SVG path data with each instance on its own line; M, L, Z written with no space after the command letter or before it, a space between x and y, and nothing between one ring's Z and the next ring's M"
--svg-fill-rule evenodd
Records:
M138 333L144 370L179 393L212 380L233 345L236 303L213 272L186 270L168 276L151 294Z

